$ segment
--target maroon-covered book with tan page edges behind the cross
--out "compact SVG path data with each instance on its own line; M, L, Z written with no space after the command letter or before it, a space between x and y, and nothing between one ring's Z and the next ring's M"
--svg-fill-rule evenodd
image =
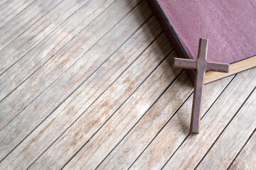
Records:
M256 1L147 1L178 57L196 60L207 38L208 61L230 64L228 73L206 72L205 84L256 67Z

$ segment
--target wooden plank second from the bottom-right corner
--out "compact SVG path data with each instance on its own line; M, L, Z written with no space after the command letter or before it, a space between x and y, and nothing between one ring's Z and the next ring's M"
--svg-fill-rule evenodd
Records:
M255 101L256 90L235 115L228 128L218 137L218 140L203 157L196 169L228 169L230 162L235 159L235 156L256 128ZM256 159L254 161L256 163ZM215 162L221 163L215 164ZM243 169L249 169L246 166L250 166L250 164L245 164Z

